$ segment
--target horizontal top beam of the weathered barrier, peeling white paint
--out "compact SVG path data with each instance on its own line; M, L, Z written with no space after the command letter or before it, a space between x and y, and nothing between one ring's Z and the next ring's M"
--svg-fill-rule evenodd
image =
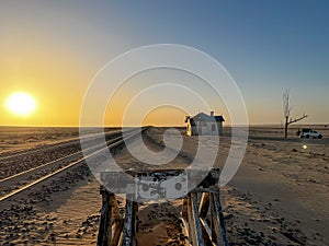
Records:
M185 194L188 190L193 190L197 192L216 192L218 189L218 179L219 179L219 168L212 169L201 169L201 168L191 168L191 169L157 169L157 171L127 171L123 173L122 171L112 171L112 172L101 172L101 180L103 184L106 184L106 187L111 187L112 191L115 194L126 192L129 190L129 187L133 187L131 191L135 191L137 188L137 196L140 195L140 199L146 196L145 194L152 194L150 197L160 197L160 198L175 198L177 194ZM180 189L175 189L175 184L166 183L169 178L172 181L180 184ZM201 180L201 178L203 180ZM144 190L144 187L148 185L147 191ZM155 184L162 184L166 186L155 186ZM140 186L140 187L139 187ZM174 192L172 194L172 190ZM143 196L141 196L143 195ZM157 196L156 196L157 195Z

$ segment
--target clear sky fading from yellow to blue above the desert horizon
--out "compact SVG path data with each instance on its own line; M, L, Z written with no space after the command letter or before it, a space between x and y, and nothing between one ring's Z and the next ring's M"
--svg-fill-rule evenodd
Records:
M282 122L286 89L292 118L305 113L309 117L303 124L329 124L328 11L325 0L0 1L0 125L79 126L84 95L104 66L155 44L193 47L220 62L243 97L251 125ZM166 82L186 91L152 91ZM114 84L109 79L107 85ZM144 103L132 104L146 89ZM27 116L7 107L7 98L19 91L36 101ZM95 97L101 96L100 91ZM121 125L124 117L128 125L178 126L186 114L209 109L230 124L229 105L185 71L135 74L107 102L109 126ZM155 108L147 112L146 105ZM88 122L93 125L97 98L89 106Z

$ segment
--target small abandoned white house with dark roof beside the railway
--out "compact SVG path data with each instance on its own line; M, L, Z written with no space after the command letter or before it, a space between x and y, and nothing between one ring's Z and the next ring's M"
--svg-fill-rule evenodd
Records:
M198 113L194 117L186 116L186 134L223 134L223 116L215 116L214 112L211 115Z

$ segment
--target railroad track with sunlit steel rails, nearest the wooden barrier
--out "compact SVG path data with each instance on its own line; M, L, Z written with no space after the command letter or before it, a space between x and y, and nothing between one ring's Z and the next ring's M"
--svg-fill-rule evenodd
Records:
M141 131L146 129L147 128L143 128ZM139 132L139 129L131 130L125 136L125 140L133 138ZM123 143L123 136L120 136L106 141L106 147L100 143L84 149L84 155L82 151L79 150L64 157L38 165L19 174L14 174L10 177L5 177L0 180L0 202L8 200L9 198L13 198L15 195L21 194L22 191L30 189L37 184L42 184L43 181L48 180L58 174L83 165L86 164L87 159L98 156L100 153L112 150Z

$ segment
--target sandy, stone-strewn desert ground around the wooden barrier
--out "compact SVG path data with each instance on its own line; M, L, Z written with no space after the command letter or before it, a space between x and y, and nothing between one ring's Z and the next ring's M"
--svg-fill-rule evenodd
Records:
M328 245L329 130L319 129L325 136L321 140L299 139L295 130L283 139L280 128L250 129L241 166L220 189L230 245ZM162 150L162 133L159 128L147 132L150 150ZM197 138L183 139L181 153L166 167L185 167L193 160ZM227 129L220 137L216 165L223 166L229 148ZM123 167L138 164L126 150L115 159ZM82 173L64 178L61 189L49 185L50 195L13 202L16 207L1 211L0 244L94 245L101 196L99 183ZM180 199L140 204L138 245L184 245L180 210Z

